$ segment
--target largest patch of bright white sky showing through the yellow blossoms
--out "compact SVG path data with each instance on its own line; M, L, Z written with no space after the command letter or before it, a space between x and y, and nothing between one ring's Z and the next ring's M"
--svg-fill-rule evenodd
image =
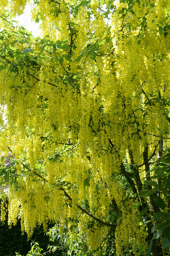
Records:
M33 1L31 1L31 3L33 3ZM40 29L38 29L39 24L31 22L31 5L27 4L24 14L16 16L14 19L19 21L19 25L22 25L28 31L31 31L35 37L40 35Z

